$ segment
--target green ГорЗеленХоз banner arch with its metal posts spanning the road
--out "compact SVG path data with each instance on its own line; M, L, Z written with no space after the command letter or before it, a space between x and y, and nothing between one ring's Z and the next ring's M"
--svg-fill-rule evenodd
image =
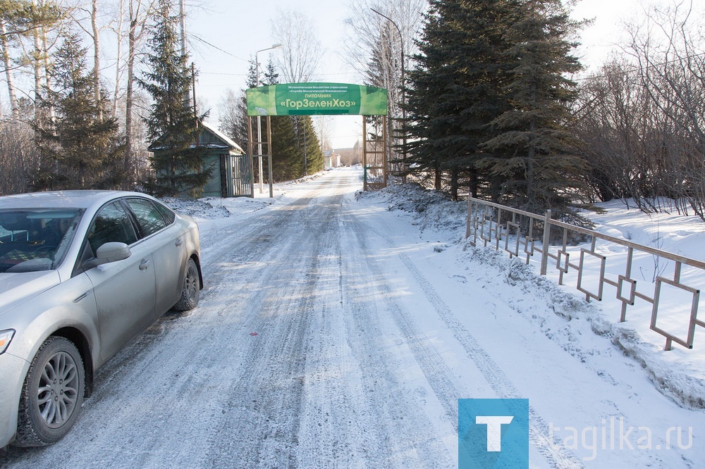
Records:
M274 197L272 181L271 116L272 115L362 115L362 190L381 189L387 185L387 102L384 88L350 85L347 83L285 83L247 89L247 154L254 173L255 144L259 159L259 177L262 180L262 160L266 156L269 172L269 197ZM257 117L257 141L252 135L252 117ZM266 117L266 136L262 139L259 124ZM374 132L367 135L367 118L382 118L381 139ZM266 147L266 154L263 149ZM254 175L254 174L253 174ZM250 182L255 196L255 180Z

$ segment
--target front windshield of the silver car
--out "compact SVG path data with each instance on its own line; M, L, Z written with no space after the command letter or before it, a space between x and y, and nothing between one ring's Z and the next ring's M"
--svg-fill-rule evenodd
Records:
M0 273L57 268L81 215L71 208L0 210Z

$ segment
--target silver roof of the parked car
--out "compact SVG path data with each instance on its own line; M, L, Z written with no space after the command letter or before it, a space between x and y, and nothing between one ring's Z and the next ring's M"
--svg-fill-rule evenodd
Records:
M140 192L73 190L30 192L0 196L2 208L99 208L107 201L124 196L140 196L152 199Z

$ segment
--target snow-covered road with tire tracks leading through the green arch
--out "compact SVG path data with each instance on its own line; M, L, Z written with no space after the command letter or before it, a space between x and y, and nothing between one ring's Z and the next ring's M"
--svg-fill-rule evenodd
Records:
M529 399L532 467L705 461L705 414L660 394L570 301L356 200L360 186L358 170L329 171L200 220L200 306L100 370L61 442L0 465L452 468L459 398Z

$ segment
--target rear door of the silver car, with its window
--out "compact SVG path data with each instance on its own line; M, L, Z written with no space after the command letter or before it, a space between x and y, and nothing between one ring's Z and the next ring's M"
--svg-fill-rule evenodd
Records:
M157 314L164 313L181 296L180 275L186 265L186 244L182 228L173 223L168 208L160 211L156 203L147 199L125 199L140 224L142 235L154 256L154 275L157 279ZM171 215L166 218L164 214Z

